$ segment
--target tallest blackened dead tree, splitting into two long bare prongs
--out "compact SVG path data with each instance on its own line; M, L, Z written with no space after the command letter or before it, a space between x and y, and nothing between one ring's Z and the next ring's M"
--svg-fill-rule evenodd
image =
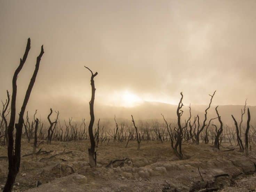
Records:
M22 67L26 61L27 55L29 54L29 50L30 50L30 38L27 39L25 53L23 55L23 58L20 59L19 66L17 67L13 75L13 82L12 82L13 94L11 96L11 115L10 115L10 122L8 127L8 140L9 140L8 141L8 176L7 176L6 184L3 188L4 192L11 192L13 188L13 184L15 182L16 175L19 172L19 166L21 162L21 136L22 136L23 121L24 121L23 116L26 110L27 102L29 101L29 97L30 97L35 79L37 77L41 57L44 53L43 46L41 46L41 52L37 57L35 70L30 80L29 86L27 88L24 101L21 107L21 112L19 113L18 123L15 124L17 77L19 72L22 70ZM15 146L14 146L14 137L13 137L14 124L16 128Z

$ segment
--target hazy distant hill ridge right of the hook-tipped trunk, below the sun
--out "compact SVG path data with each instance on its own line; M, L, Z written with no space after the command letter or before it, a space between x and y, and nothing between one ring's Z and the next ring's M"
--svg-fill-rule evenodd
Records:
M192 118L199 115L200 120L204 119L205 109L207 105L191 105ZM208 110L208 119L217 117L215 111L216 105L212 105ZM241 109L243 105L219 105L218 112L221 115L223 123L233 123L231 114L237 119L238 122L241 120ZM161 113L165 115L168 119L177 119L176 110L177 105L171 105L166 103L157 103L157 102L144 102L141 105L126 108L126 107L113 107L113 106L101 106L96 107L99 109L96 112L98 115L101 115L104 118L113 118L114 114L119 118L130 118L130 115L133 114L136 119L162 119ZM189 107L183 106L183 119L189 116ZM254 121L256 117L256 106L249 106L251 113L251 120ZM97 110L96 110L97 111ZM246 113L243 116L243 121L247 121L247 108Z

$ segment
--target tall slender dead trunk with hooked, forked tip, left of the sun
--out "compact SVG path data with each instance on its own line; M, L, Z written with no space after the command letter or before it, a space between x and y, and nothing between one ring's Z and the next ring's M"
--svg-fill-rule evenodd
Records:
M86 69L88 69L91 72L91 101L89 102L90 105L90 123L88 127L90 142L91 142L91 148L88 149L89 154L89 165L91 167L96 167L97 165L97 154L95 151L95 140L93 136L93 124L94 124L94 99L95 99L95 85L94 85L94 77L98 74L97 72L93 74L93 72L85 66Z

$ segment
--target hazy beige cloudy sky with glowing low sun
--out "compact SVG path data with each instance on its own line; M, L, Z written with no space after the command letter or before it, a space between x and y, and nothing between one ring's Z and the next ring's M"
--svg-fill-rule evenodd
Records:
M134 107L145 101L256 105L256 1L0 0L0 99L18 77L24 98L41 45L40 69L27 109Z

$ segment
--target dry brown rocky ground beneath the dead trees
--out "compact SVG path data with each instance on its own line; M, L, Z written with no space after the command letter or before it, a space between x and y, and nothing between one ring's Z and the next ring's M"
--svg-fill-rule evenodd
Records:
M178 160L169 142L109 142L97 148L97 167L88 165L89 141L43 143L41 151L53 151L22 157L14 191L199 191L218 188L218 191L254 191L256 188L255 147L249 157L228 144L220 151L201 143L183 144L186 160ZM37 149L37 151L39 150ZM65 149L65 151L64 151ZM22 155L32 152L32 144L22 141ZM57 154L57 155L55 155ZM0 146L0 156L7 149ZM53 157L53 155L55 155ZM51 157L51 158L49 158ZM45 159L42 159L45 158ZM106 168L111 160L128 158ZM198 167L202 178L199 175ZM0 159L0 185L4 185L8 162ZM214 178L218 174L229 177ZM35 187L37 181L42 185Z

